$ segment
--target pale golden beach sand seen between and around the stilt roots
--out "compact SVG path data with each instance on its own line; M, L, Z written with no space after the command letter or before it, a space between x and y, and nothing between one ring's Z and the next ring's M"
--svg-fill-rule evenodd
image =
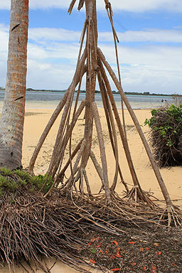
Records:
M105 113L104 109L100 108L100 118L102 122L102 131L104 134L105 139L105 149L107 151L107 167L109 173L109 183L112 183L114 178L114 156L112 153L112 148L110 146L109 135L107 132L107 124L105 121ZM149 135L149 127L144 126L144 120L146 118L151 117L150 109L136 109L134 110L137 118L139 119L139 123L143 125L141 128L147 138ZM51 114L53 113L53 109L27 109L26 110L26 118L25 118L25 125L24 125L24 132L23 132L23 168L28 166L28 162L31 159L33 154L33 150L36 147L38 139L41 137L41 133L45 128L45 125L48 123ZM119 110L121 113L121 110ZM125 111L125 120L127 124L127 139L129 141L129 149L132 154L132 159L134 162L134 167L137 172L137 176L139 178L139 182L141 183L141 188L145 191L150 191L154 193L154 196L159 199L163 199L161 194L159 184L156 181L156 177L154 175L154 171L151 168L151 164L149 162L148 156L146 155L146 151L144 146L141 143L141 139L137 130L134 127L132 119L129 117L129 113L127 110ZM59 119L55 122L53 128L50 130L50 134L48 134L45 143L41 149L41 152L38 156L36 161L36 165L34 171L36 174L38 173L45 173L48 169L48 164L50 161L51 152L53 151L53 145L55 143L55 137L58 131L58 125L60 122ZM77 126L73 131L73 147L77 144L77 141L82 137L82 133L84 130L84 123L85 120L82 116L77 122ZM122 168L122 174L124 176L124 181L128 184L128 186L132 186L132 178L129 173L129 168L127 166L127 161L124 156L124 151L122 149L122 143L119 139L118 134L118 145L119 145L119 163ZM96 137L96 132L94 129L93 133L93 141L92 141L92 150L95 152L98 161L100 161L100 150L98 146L98 141ZM172 168L162 168L161 175L164 178L166 183L166 187L170 193L171 199L175 205L182 205L182 180L181 180L181 171L182 166L179 167L172 167ZM89 161L87 165L87 174L89 176L89 181L91 184L91 188L93 193L97 193L100 190L101 183L100 179L97 176L97 173L92 165L92 162ZM118 185L117 185L117 193L122 193L124 191L124 187L122 183L119 181L118 178ZM179 200L181 199L181 200ZM176 201L178 200L178 201ZM53 262L48 262L47 259L45 261L48 263L48 266L51 267ZM17 267L18 268L18 267ZM4 269L0 268L2 273L8 272L8 268L5 267ZM22 267L18 269L18 273L24 272ZM41 272L38 270L37 272ZM66 266L61 262L57 262L53 269L51 269L52 273L72 273L75 272L74 269ZM99 272L90 270L90 272Z

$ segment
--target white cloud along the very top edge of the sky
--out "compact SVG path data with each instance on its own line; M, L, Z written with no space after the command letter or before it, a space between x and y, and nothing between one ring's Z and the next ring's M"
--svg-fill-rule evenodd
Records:
M68 9L71 0L31 0L31 9ZM11 0L1 0L0 9L9 9ZM181 0L112 0L112 7L114 12L117 11L134 11L144 12L156 9L166 9L169 11L182 12L182 1ZM78 5L78 0L75 7ZM105 3L103 0L97 0L97 8L99 10L105 9Z

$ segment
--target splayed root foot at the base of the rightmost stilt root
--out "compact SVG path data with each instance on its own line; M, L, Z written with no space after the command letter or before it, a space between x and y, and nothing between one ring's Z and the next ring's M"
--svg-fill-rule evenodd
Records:
M175 225L176 227L182 226L182 211L176 207L175 205L167 205L164 209L161 217L159 219L159 223L167 223L168 228L171 225Z

